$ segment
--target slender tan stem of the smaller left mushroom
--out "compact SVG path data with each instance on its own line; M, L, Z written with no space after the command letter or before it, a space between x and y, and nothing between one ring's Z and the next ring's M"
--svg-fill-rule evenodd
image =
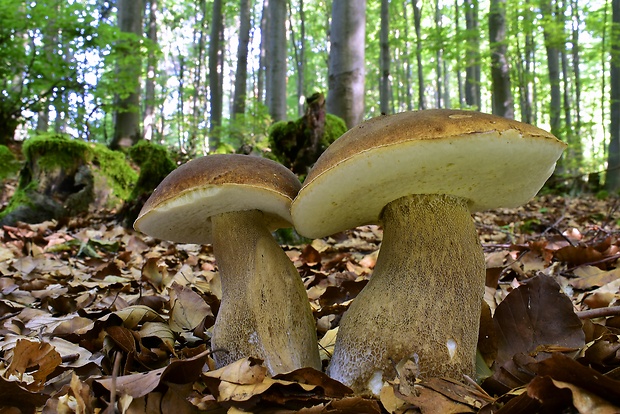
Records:
M212 217L222 301L211 339L218 367L253 356L272 375L321 368L316 327L295 266L257 210Z

